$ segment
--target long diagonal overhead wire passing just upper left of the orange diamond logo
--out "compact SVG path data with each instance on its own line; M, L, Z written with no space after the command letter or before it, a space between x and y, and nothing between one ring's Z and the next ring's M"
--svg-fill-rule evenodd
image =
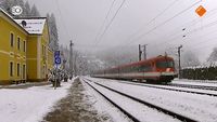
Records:
M137 40L136 40L136 39L135 39L135 40L136 40L136 41L140 40L142 37L144 37L144 36L149 35L149 33L151 33L152 31L154 31L154 30L157 29L158 27L164 26L165 24L167 24L168 22L170 22L170 21L174 19L175 17L179 16L180 14L184 13L186 11L190 10L191 8L193 8L194 5L196 5L197 3L200 3L201 1L202 1L202 0L200 0L200 1L197 1L197 2L195 2L195 3L193 3L193 4L191 4L191 5L188 6L187 9L182 10L181 12L175 14L173 17L170 17L170 18L166 19L165 22L158 24L157 26L153 27L151 30L149 30L149 31L146 31L145 33L139 36L139 37L137 38ZM132 41L133 41L133 40L132 40ZM132 41L129 41L127 44L131 43Z

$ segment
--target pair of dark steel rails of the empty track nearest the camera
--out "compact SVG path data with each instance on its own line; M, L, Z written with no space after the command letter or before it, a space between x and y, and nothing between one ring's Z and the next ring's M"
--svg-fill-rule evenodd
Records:
M87 80L87 81L86 81L86 80ZM188 118L188 117L181 116L181 114L179 114L179 113L176 113L176 112L174 112L174 111L167 110L167 109L165 109L165 108L162 108L162 107L159 107L159 106L153 105L153 104L151 104L151 103L141 100L141 99L137 98L137 97L133 97L133 96L131 96L131 95L125 94L125 93L123 93L123 92L120 92L120 91L117 91L117 90L114 90L114 89L112 89L112 87L105 86L105 85L100 84L100 83L98 83L98 82L93 82L93 81L91 81L91 80L89 80L89 79L84 79L84 81L85 81L89 86L91 86L94 91L97 91L100 95L102 95L105 99L107 99L111 104L113 104L115 107L117 107L123 113L125 113L127 117L129 117L129 118L130 118L132 121L135 121L135 122L140 122L140 120L138 120L138 119L137 119L136 117L133 117L131 113L129 113L128 111L126 111L124 108L119 107L117 104L115 104L115 101L113 101L113 99L110 99L108 97L106 97L103 93L101 93L98 89L95 89L95 87L94 87L93 85L91 85L89 82L92 82L92 83L94 83L94 84L97 84L97 85L99 85L99 86L102 86L102 87L104 87L104 89L106 89L106 90L110 90L110 91L112 91L112 92L114 92L114 93L117 93L117 94L119 94L119 95L122 95L122 96L125 96L125 97L127 97L127 98L130 98L130 99L132 99L132 100L135 100L135 101L137 101L137 103L140 103L140 104L144 105L144 106L148 106L148 107L150 107L150 108L156 109L156 110L158 110L158 111L161 111L161 112L164 112L165 114L171 116L171 117L174 117L174 118L176 118L176 119L178 119L178 120L180 120L180 121L183 121L183 122L196 122L196 120L193 120L193 119L190 119L190 118Z

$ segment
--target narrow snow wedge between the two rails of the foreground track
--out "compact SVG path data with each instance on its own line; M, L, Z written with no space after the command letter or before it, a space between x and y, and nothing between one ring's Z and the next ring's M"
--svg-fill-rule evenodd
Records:
M149 108L143 104L137 103L130 98L111 92L102 86L95 85L93 83L91 84L94 85L94 87L97 87L105 96L113 99L122 108L133 114L133 117L139 119L141 122L179 122L179 120L174 119L170 116L164 114L157 111L156 109ZM123 121L118 120L115 122L123 122Z

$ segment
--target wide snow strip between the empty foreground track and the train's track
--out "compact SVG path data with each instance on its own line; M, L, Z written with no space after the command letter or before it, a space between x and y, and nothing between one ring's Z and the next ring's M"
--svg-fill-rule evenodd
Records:
M92 80L201 122L217 121L217 97L118 83L115 80Z

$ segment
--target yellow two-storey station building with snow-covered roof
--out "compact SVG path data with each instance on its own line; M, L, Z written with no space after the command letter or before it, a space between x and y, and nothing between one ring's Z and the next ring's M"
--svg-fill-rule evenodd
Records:
M0 9L0 84L44 81L52 67L47 18L14 19Z

